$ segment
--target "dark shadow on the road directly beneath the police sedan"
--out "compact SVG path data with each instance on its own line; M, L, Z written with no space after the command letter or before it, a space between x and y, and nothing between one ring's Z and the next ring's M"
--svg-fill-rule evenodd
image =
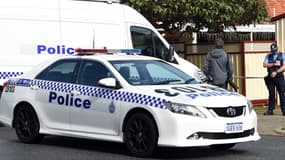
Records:
M40 145L51 145L56 147L89 150L101 153L112 153L119 155L129 155L126 147L122 143L88 140L81 138L47 136ZM233 147L227 151L217 151L209 147L159 147L149 159L184 159L201 157L219 157L232 154L247 154L246 150Z

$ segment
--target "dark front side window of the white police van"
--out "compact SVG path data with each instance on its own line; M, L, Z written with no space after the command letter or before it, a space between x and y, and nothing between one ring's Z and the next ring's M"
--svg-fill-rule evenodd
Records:
M131 27L133 47L142 50L142 55L168 61L169 51L159 37L150 29Z

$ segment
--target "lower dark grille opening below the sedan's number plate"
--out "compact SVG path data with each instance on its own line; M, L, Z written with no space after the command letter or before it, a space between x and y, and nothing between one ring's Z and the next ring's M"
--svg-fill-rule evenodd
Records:
M232 139L232 138L242 138L248 137L254 134L254 128L245 130L241 133L209 133L209 132L198 132L199 137L203 137L205 139Z

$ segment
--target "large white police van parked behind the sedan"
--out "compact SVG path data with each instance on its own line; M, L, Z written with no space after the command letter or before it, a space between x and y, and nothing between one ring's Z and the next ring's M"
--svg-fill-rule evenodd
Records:
M0 84L74 48L139 48L197 80L199 68L179 57L136 10L118 0L2 0Z

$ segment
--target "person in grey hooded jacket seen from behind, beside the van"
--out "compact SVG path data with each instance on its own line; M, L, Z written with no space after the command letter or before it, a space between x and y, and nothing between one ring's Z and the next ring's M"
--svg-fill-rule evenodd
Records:
M224 41L217 38L215 48L205 56L203 72L208 76L209 84L227 89L227 83L233 78L233 63L223 47Z

